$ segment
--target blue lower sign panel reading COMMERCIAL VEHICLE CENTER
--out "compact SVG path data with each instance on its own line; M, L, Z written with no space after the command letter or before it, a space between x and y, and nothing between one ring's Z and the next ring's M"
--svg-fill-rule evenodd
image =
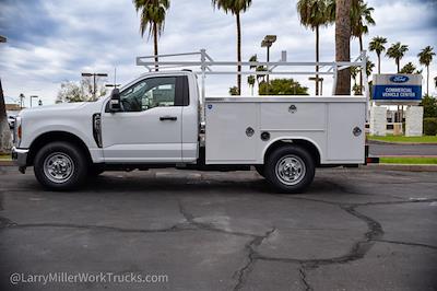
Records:
M421 85L374 85L374 100L421 101Z

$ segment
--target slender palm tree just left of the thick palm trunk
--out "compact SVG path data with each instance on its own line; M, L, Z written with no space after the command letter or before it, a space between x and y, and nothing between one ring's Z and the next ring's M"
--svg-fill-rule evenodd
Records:
M299 0L297 13L300 24L316 31L316 62L319 62L319 27L332 22L329 15L329 2L327 0ZM316 66L316 95L319 95L319 66Z

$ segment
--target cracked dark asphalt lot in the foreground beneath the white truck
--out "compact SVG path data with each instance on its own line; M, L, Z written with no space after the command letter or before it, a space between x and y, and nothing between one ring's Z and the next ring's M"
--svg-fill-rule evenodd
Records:
M436 188L435 172L333 168L279 195L255 172L160 170L52 193L3 170L0 290L437 290Z

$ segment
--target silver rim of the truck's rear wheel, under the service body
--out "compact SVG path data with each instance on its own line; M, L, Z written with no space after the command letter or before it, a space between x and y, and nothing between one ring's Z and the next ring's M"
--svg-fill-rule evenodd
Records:
M306 173L306 166L299 156L290 154L277 161L275 173L281 183L293 186L303 181Z

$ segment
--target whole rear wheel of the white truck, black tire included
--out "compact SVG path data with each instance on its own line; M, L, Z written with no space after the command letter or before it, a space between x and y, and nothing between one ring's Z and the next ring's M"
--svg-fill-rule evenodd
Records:
M267 158L267 181L279 191L303 193L311 184L316 173L315 161L300 147L287 146L273 151Z

